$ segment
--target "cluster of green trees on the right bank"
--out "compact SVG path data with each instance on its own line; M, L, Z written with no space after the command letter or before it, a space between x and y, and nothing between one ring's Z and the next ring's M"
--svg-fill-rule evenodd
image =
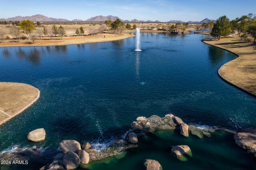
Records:
M247 34L251 34L256 40L256 15L248 14L234 20L229 20L226 16L221 16L213 25L211 36L220 40L221 36L228 36L230 33L238 33L241 40L247 40ZM241 35L242 34L242 35Z

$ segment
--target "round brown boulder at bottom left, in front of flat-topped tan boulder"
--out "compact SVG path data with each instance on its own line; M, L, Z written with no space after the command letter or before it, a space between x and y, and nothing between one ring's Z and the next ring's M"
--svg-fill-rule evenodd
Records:
M71 170L77 168L81 160L76 153L69 151L64 154L62 162L67 170Z

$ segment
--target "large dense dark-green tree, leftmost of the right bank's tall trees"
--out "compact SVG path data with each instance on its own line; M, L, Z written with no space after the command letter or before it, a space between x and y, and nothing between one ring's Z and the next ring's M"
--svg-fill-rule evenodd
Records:
M222 16L216 20L210 33L215 39L220 40L220 36L228 36L231 32L231 24L226 16Z

